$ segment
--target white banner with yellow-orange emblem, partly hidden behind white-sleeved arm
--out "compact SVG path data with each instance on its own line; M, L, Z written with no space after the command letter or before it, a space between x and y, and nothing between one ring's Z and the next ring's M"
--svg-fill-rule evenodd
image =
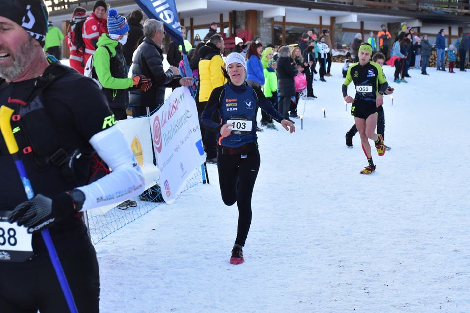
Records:
M124 134L125 141L131 148L137 163L142 168L145 179L145 189L158 182L160 171L153 164L152 137L150 117L139 117L118 121L116 125ZM119 203L93 209L95 214L105 214Z

